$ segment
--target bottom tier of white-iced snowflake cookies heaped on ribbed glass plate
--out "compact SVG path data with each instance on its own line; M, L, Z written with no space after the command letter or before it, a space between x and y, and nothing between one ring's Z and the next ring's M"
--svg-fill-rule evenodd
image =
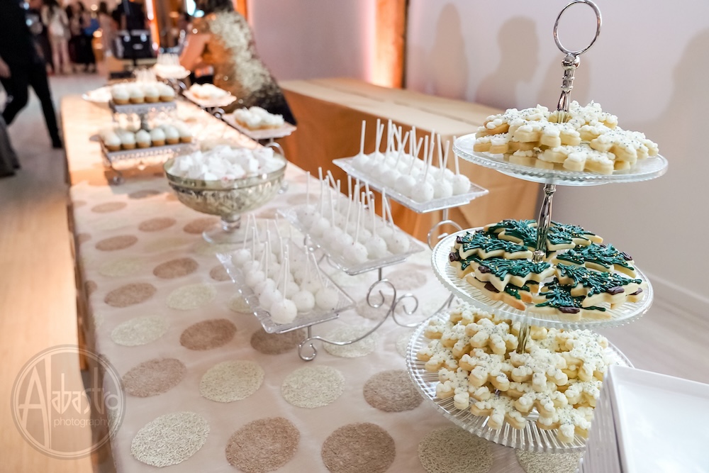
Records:
M452 420L489 440L504 430L498 443L513 447L583 447L608 366L629 362L590 330L533 326L518 352L519 330L466 304L437 314L414 334L412 377ZM546 445L530 445L542 436Z

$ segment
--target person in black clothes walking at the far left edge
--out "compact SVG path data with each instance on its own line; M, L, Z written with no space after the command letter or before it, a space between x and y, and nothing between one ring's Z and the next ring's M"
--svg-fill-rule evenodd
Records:
M0 82L8 95L3 118L12 123L27 105L31 86L42 103L52 148L62 148L47 69L35 49L26 10L19 0L0 0L0 12Z

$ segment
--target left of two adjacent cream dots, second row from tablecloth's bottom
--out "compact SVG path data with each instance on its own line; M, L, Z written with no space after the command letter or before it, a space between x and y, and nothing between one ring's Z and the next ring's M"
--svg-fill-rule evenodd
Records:
M241 401L258 391L263 382L264 370L256 362L221 362L204 374L199 394L210 401Z

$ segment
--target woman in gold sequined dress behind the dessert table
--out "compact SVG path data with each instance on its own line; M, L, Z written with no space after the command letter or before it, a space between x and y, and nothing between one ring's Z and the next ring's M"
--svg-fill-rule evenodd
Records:
M296 123L281 88L258 57L254 37L245 18L234 11L231 0L199 0L204 12L194 18L193 32L180 56L186 69L211 66L214 85L238 98L233 108L259 106Z

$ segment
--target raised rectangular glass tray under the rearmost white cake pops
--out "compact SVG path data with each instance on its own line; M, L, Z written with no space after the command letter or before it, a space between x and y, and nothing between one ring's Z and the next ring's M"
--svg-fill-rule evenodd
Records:
M367 184L369 184L369 187L372 187L372 189L374 189L375 191L381 192L382 189L386 189L386 196L389 197L389 199L397 201L399 204L406 206L407 208L411 208L411 210L416 213L427 213L437 210L443 210L444 208L462 206L468 204L474 199L477 199L478 197L482 197L486 194L489 194L489 191L487 189L484 189L483 187L480 187L479 185L473 184L471 182L470 191L466 192L465 194L450 196L446 199L432 199L428 202L417 202L413 199L409 199L407 196L401 194L400 192L391 189L379 180L374 179L374 177L370 176L369 174L361 172L359 171L359 169L355 169L354 166L352 166L352 160L354 160L353 157L342 157L339 160L334 160L333 164L337 167L340 167L340 169L347 172L347 174L350 174L350 176L354 177L354 179L359 179L362 182L367 182Z

